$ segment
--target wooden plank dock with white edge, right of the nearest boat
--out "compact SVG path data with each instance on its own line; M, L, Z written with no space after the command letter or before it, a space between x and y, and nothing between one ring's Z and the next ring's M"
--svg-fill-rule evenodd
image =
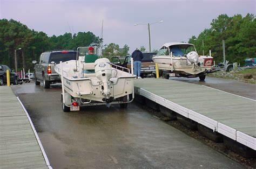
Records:
M255 100L206 86L154 78L136 79L134 91L213 132L250 147L255 153Z

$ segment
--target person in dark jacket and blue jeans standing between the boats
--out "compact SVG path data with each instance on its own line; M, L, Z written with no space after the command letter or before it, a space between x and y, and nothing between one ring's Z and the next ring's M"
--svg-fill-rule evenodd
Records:
M136 50L132 52L132 58L133 58L134 75L137 76L137 79L138 78L140 79L140 68L142 68L143 54L138 48L136 48Z

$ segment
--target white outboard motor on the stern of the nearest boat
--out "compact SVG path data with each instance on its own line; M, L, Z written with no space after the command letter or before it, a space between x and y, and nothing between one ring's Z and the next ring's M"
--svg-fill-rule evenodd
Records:
M109 79L112 76L110 61L107 58L100 58L95 61L95 75L102 82L103 95L110 94Z

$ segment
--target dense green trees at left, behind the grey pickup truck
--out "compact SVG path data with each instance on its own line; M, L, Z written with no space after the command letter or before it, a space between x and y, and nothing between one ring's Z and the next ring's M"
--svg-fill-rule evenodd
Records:
M16 20L0 19L0 63L15 68L15 50L22 48L16 51L18 70L25 68L32 72L32 60L38 60L45 51L76 50L79 46L90 46L92 43L99 43L99 37L92 32L48 37L46 33L30 30Z

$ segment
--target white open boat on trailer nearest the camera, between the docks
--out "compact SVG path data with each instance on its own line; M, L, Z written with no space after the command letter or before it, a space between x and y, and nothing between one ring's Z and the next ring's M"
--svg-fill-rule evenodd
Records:
M80 107L89 105L120 104L127 107L127 103L134 98L133 82L136 76L130 74L129 69L112 68L107 58L99 58L94 63L85 63L84 57L77 60L60 62L55 71L62 80L62 107L63 111L77 111ZM114 65L118 67L117 65ZM95 70L93 73L86 70Z

